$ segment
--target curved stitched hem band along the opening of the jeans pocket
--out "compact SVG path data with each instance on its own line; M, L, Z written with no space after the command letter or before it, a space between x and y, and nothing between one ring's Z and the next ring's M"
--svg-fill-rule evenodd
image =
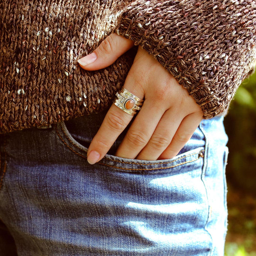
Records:
M85 158L87 155L87 148L82 145L78 140L73 138L65 126L65 123L59 123L55 126L56 133L60 140L65 144L66 148L70 149L74 154ZM187 149L186 152L175 156L172 159L164 160L137 160L120 158L118 156L107 154L97 164L105 165L116 171L124 172L186 172L196 168L202 168L204 158L204 147L192 147L193 149Z

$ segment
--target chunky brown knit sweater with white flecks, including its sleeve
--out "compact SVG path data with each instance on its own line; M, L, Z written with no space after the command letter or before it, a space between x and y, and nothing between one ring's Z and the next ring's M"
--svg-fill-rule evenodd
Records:
M256 3L1 0L0 133L110 106L137 47L97 71L77 60L113 32L153 55L211 118L227 108L255 62Z

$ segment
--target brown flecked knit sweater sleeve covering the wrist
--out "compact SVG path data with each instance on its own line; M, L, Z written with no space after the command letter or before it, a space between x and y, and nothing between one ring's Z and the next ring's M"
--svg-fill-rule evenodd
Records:
M256 59L253 0L135 0L115 31L153 55L201 106L222 113Z

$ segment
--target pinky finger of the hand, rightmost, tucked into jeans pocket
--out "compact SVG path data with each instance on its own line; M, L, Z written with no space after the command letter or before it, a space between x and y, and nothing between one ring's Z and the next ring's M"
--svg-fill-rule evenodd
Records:
M199 126L201 121L201 112L195 112L183 118L174 137L172 138L171 143L169 146L167 146L167 148L159 156L158 159L170 159L176 156L183 148L183 146L188 142L188 140L192 137L194 131Z

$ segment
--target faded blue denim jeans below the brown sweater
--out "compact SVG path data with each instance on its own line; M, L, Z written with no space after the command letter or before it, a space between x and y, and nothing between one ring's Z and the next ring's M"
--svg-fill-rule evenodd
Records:
M105 112L1 135L0 256L223 256L223 117L203 120L172 159L87 147Z

